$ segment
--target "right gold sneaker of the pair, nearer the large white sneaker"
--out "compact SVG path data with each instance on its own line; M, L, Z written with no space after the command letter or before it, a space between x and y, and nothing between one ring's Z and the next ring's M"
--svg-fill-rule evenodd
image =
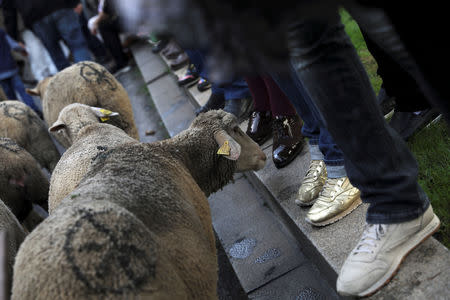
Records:
M315 226L325 226L342 219L360 204L360 192L348 177L328 178L306 215L306 221Z

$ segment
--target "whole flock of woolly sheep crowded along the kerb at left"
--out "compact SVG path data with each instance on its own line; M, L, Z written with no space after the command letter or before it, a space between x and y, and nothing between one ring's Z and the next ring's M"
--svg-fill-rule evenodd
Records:
M92 62L29 93L49 128L21 102L0 102L7 297L217 298L207 197L266 160L236 119L210 111L171 139L141 143L126 91Z

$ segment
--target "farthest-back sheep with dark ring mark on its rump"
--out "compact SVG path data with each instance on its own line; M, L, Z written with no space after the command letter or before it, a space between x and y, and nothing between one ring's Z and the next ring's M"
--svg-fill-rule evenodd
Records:
M83 103L118 112L120 117L111 119L111 124L139 140L127 92L113 75L97 63L83 61L74 64L44 79L27 92L41 97L44 120L48 125L58 119L59 112L65 106ZM66 137L55 137L65 148L69 147Z

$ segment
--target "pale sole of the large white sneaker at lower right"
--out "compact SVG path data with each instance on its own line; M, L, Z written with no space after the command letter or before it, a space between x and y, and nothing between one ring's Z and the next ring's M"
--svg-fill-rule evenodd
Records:
M386 272L386 274L378 280L374 285L372 285L367 290L359 293L357 296L359 297L368 297L373 294L375 294L378 290L380 290L382 287L384 287L386 284L388 284L391 279L397 274L400 265L405 260L406 256L408 256L409 253L411 253L412 250L417 248L422 242L424 242L427 238L432 236L436 231L438 231L439 226L441 225L441 222L439 221L438 216L434 214L433 219L430 221L430 223L425 226L424 229L419 231L417 234L415 234L412 239L410 239L407 244L403 247L401 255L398 256L398 258L392 263L391 268ZM350 296L342 294L343 296Z

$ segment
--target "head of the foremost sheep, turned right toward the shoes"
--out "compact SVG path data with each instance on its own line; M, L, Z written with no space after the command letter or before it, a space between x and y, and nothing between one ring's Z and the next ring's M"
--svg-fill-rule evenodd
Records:
M235 116L223 110L200 114L191 128L212 131L217 143L217 155L236 161L236 172L260 170L266 155L259 145L239 128Z

